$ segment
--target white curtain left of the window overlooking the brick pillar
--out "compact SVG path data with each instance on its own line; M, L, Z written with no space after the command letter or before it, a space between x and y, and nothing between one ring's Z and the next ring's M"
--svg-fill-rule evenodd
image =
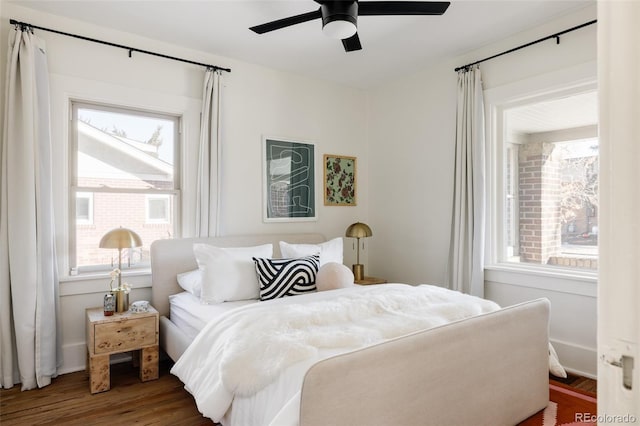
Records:
M458 73L449 288L484 296L484 103L480 69Z

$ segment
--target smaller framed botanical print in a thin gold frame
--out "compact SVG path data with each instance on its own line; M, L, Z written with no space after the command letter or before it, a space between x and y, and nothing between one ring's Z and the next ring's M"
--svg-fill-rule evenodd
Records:
M356 157L325 154L324 205L356 205Z

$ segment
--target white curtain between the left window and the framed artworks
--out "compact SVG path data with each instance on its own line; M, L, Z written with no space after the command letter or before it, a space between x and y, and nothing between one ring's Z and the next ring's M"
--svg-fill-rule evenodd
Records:
M196 183L196 236L217 236L220 220L220 104L222 73L207 69L200 115L200 151Z

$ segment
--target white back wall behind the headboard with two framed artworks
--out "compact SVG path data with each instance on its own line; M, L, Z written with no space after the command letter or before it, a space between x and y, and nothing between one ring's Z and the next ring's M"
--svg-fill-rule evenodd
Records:
M7 37L13 30L8 23L9 18L232 69L230 74L224 75L223 234L320 232L330 238L343 235L346 227L358 219L367 220L369 200L366 178L358 182L357 207L325 207L318 196L316 222L265 224L262 222L261 204L262 135L299 138L316 144L318 194L322 189L321 162L325 153L358 157L358 172L360 176L367 175L366 98L361 91L111 31L15 4L0 5L0 46L3 49L0 69L3 73ZM47 43L51 73L56 167L54 196L59 233L58 254L61 256L65 355L61 372L68 372L84 368L84 310L102 304L102 296L109 282L104 275L93 278L66 276L68 100L95 100L185 116L183 223L184 235L189 235L193 232L193 222L189 217L195 204L199 99L204 70L140 53L134 53L130 59L125 50L45 31L36 30L36 33ZM0 84L4 84L4 77ZM351 244L346 243L345 249L345 263L352 263L355 255ZM149 274L130 275L126 279L135 287L131 300L150 298Z

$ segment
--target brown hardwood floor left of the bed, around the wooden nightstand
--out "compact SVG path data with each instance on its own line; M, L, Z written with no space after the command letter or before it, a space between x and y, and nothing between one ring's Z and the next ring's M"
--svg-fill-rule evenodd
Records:
M131 363L111 366L111 390L91 395L85 372L59 376L42 389L0 391L0 424L10 425L212 425L182 382L160 363L160 378L140 382Z

